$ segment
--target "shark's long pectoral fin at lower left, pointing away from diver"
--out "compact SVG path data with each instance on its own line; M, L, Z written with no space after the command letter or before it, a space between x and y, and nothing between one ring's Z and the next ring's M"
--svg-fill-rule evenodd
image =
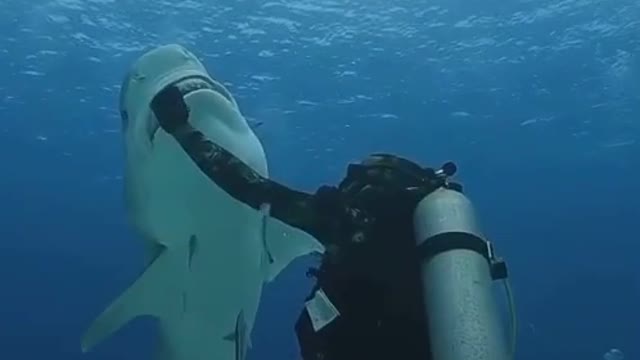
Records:
M119 328L138 316L157 316L168 304L167 274L174 269L170 251L164 248L144 273L122 293L97 319L82 339L82 351L89 351ZM170 286L170 285L169 285Z

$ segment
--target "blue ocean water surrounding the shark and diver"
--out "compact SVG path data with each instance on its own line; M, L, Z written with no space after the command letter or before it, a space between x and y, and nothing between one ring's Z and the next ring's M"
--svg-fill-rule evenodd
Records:
M509 261L518 359L640 357L640 2L3 0L0 359L149 359L151 322L88 354L142 268L122 198L120 82L180 43L237 97L273 176L454 160ZM309 259L265 290L251 359L298 359Z

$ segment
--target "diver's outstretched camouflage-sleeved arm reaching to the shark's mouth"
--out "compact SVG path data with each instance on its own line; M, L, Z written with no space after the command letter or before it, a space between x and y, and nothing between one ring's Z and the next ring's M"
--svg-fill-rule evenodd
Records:
M269 204L270 216L306 231L320 242L327 239L323 235L327 222L332 220L323 214L332 213L337 206L339 195L335 188L322 187L315 194L308 194L260 176L189 123L189 109L175 86L162 90L153 99L151 108L160 126L173 136L198 168L229 195L256 210Z

